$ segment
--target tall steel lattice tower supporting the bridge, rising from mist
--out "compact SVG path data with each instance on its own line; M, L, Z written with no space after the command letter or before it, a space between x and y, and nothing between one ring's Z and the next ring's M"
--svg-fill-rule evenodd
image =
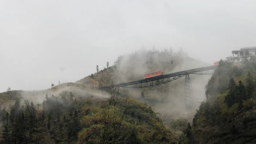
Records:
M185 110L192 109L193 106L193 88L191 85L189 74L186 75L184 84L184 101Z

